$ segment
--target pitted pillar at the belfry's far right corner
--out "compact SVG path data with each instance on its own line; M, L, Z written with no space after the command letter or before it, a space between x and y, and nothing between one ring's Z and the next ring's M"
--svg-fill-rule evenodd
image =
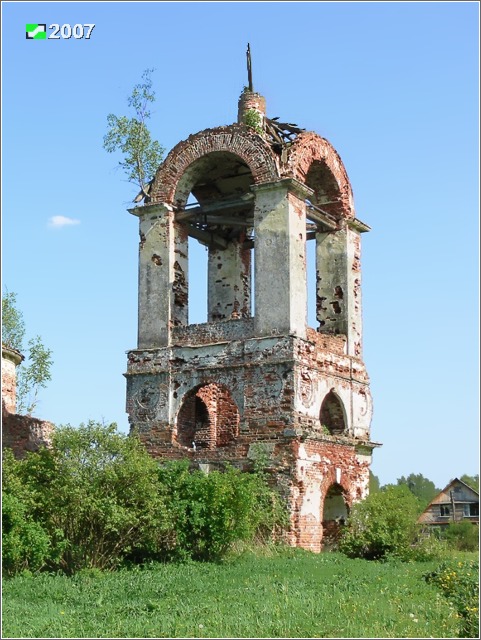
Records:
M316 236L316 307L321 333L346 335L348 355L360 358L361 237L356 222Z

